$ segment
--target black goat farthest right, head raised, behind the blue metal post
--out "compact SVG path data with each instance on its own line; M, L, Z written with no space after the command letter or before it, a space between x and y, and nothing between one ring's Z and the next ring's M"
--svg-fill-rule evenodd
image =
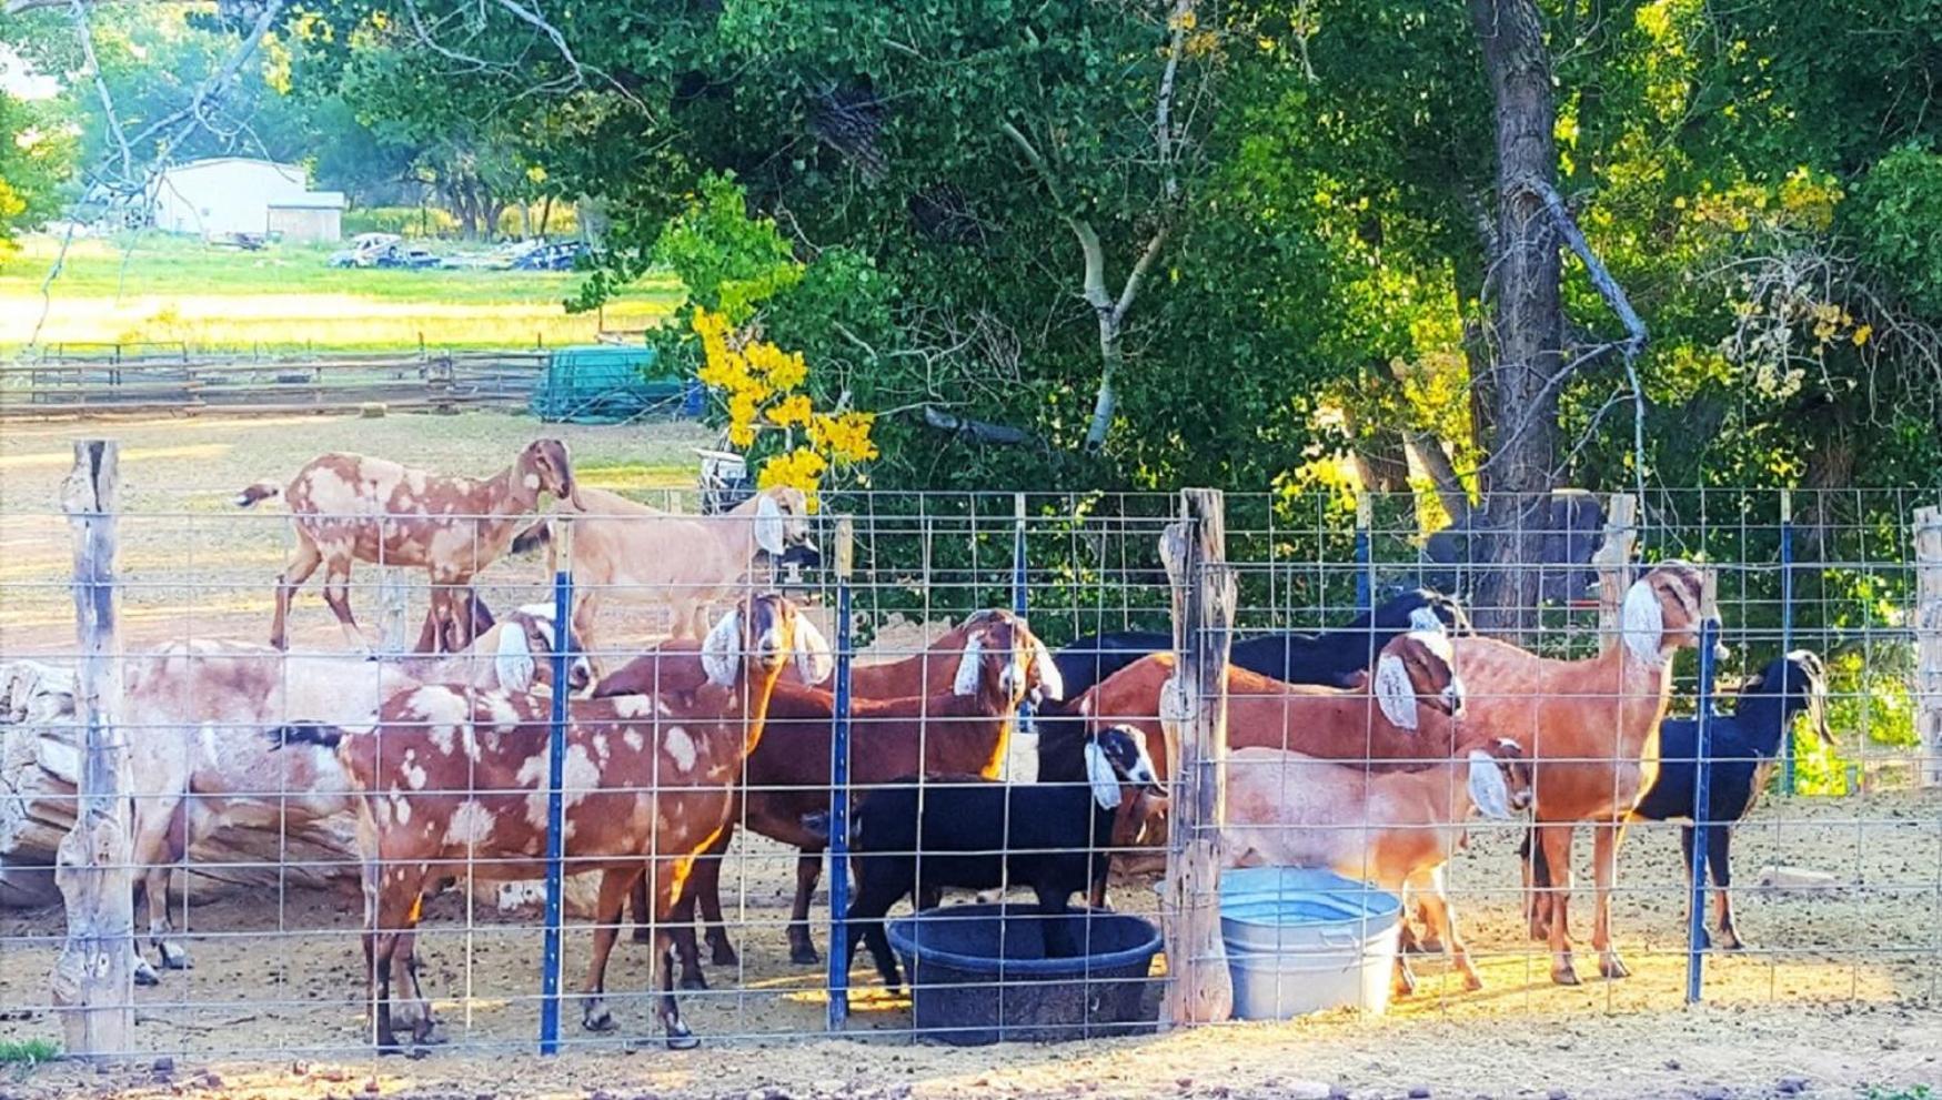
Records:
M1831 745L1827 733L1827 669L1810 650L1794 650L1775 658L1754 679L1740 685L1732 714L1715 714L1711 722L1713 753L1707 830L1707 869L1715 887L1719 945L1726 951L1746 947L1732 920L1732 826L1746 821L1773 774L1781 743L1794 716L1806 710L1814 718L1814 733ZM1699 760L1699 720L1666 718L1658 724L1658 778L1639 797L1631 821L1693 821L1693 780ZM1530 844L1528 840L1524 842ZM1693 865L1693 826L1680 830L1680 850L1686 869ZM1550 885L1544 852L1532 859L1532 885ZM1701 931L1705 937L1705 931ZM1701 939L1701 947L1709 937Z

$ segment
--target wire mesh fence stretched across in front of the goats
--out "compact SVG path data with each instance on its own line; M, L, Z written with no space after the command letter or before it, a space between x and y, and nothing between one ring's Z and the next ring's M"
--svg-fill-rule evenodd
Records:
M1561 679L1544 681L1544 698L1561 710L1486 728L1491 696L1528 691L1517 673L1462 642L1410 650L1410 632L1429 627L1507 632L1507 609L1491 603L1503 568L1484 559L1482 520L1456 526L1478 534L1437 534L1447 514L1420 495L1227 495L1235 638L1301 640L1270 646L1278 675L1227 685L1225 857L1301 871L1227 875L1225 958L1171 958L1155 890L1181 714L1214 702L1187 693L1169 704L1173 658L1148 656L1192 638L1175 623L1179 578L1161 555L1181 516L1175 495L835 493L800 518L787 501L781 514L750 501L713 518L606 520L602 497L583 502L571 535L555 526L544 551L522 555L505 543L530 535L532 516L452 510L439 522L462 535L445 549L493 563L437 586L416 559L400 563L398 532L416 512L346 510L324 516L342 524L328 530L371 526L390 565L357 563L344 578L326 563L313 584L342 598L359 629L299 590L287 654L262 644L272 578L303 553L287 514L126 512L113 714L132 760L128 871L144 883L134 939L155 982L134 995L134 1048L369 1050L373 974L388 982L400 1046L530 1050L550 1013L559 1044L660 1042L662 951L682 1028L709 1042L1144 1030L1194 964L1227 966L1247 1013L1672 1009L1693 960L1676 813L1690 803L1633 821L1622 844L1608 832L1610 939L1590 920L1598 846L1577 844L1577 989L1554 984L1557 941L1532 937L1532 898L1552 894L1530 887L1519 857L1532 815L1546 815L1548 776L1556 792L1569 766L1590 768L1590 786L1612 797L1651 793L1653 768L1635 762L1657 747L1625 741L1625 728L1657 714L1657 683L1598 679L1596 660L1625 652L1616 629L1635 623L1622 598L1664 559L1717 574L1730 648L1707 689L1719 695L1705 733L1719 762L1701 770L1719 823L1709 836L1732 825L1730 863L1713 875L1723 883L1730 865L1738 910L1723 927L1719 894L1705 902L1719 951L1703 997L1932 999L1942 815L1921 788L1934 768L1921 722L1936 702L1921 691L1919 627L1942 623L1923 615L1917 559L1930 501L1653 493L1618 532L1635 539L1618 601L1600 598L1600 580L1625 565L1598 557L1610 499L1561 495L1523 510L1542 561L1519 568L1542 605L1515 640L1579 663L1548 665ZM695 506L691 495L649 502ZM0 572L0 1034L33 1038L60 1034L47 982L66 939L52 865L84 735L68 516L12 501L8 522L17 541ZM757 598L771 586L787 607ZM1412 603L1418 588L1453 596L1460 613ZM1686 745L1697 733L1680 720L1701 693L1699 607L1670 588L1651 599L1666 638L1684 629L1682 611L1691 617L1664 695L1666 743ZM565 623L559 607L573 609ZM1410 615L1425 607L1435 625ZM798 621L833 650L829 679L794 660L814 650ZM353 646L359 636L375 660ZM414 636L462 652L402 654ZM1785 704L1783 658L1794 650L1820 658L1827 743L1814 735L1818 698L1802 689L1798 722ZM1435 681L1439 658L1455 691ZM1763 700L1779 718L1761 718ZM1383 737L1394 737L1389 749ZM1690 751L1680 762L1666 753L1658 770L1678 776L1668 784L1691 782ZM1598 813L1606 825L1624 817ZM837 857L825 869L827 850ZM559 890L546 889L550 854ZM1111 914L1078 908L1105 854L1111 877L1093 900ZM1328 869L1344 879L1319 877ZM971 904L977 890L996 902L1000 885L1004 908ZM940 892L940 916L909 918ZM1068 896L1080 916L1039 912ZM373 922L381 935L367 947ZM600 966L604 982L583 980ZM1600 980L1620 968L1629 978ZM419 1030L419 995L431 1030Z

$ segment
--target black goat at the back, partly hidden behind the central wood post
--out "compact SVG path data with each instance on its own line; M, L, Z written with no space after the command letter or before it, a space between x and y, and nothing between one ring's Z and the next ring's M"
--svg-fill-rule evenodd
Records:
M1468 629L1462 607L1441 592L1414 588L1385 599L1375 611L1363 611L1334 631L1243 638L1233 644L1227 662L1282 683L1361 687L1359 677L1398 634L1445 629ZM1056 660L1066 689L1076 698L1146 654L1171 650L1171 634L1119 631L1078 638L1058 650Z

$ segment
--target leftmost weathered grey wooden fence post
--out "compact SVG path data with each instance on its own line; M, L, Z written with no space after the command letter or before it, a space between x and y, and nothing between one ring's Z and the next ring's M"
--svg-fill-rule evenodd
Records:
M74 444L60 508L74 532L74 619L80 640L74 714L82 724L82 774L74 830L54 856L54 883L68 906L68 941L49 978L74 1057L126 1055L134 1040L134 894L128 840L128 741L120 710L120 642L115 636L115 440Z

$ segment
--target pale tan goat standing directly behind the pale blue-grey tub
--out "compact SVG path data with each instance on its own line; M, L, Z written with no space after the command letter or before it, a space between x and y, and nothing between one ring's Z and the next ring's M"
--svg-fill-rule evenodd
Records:
M1528 807L1530 764L1517 741L1476 747L1466 759L1414 772L1371 772L1280 749L1235 749L1227 755L1225 857L1229 867L1330 867L1404 902L1414 890L1431 935L1476 991L1484 980L1456 933L1443 867L1464 842L1472 811L1507 821ZM1416 991L1402 953L1396 991Z

